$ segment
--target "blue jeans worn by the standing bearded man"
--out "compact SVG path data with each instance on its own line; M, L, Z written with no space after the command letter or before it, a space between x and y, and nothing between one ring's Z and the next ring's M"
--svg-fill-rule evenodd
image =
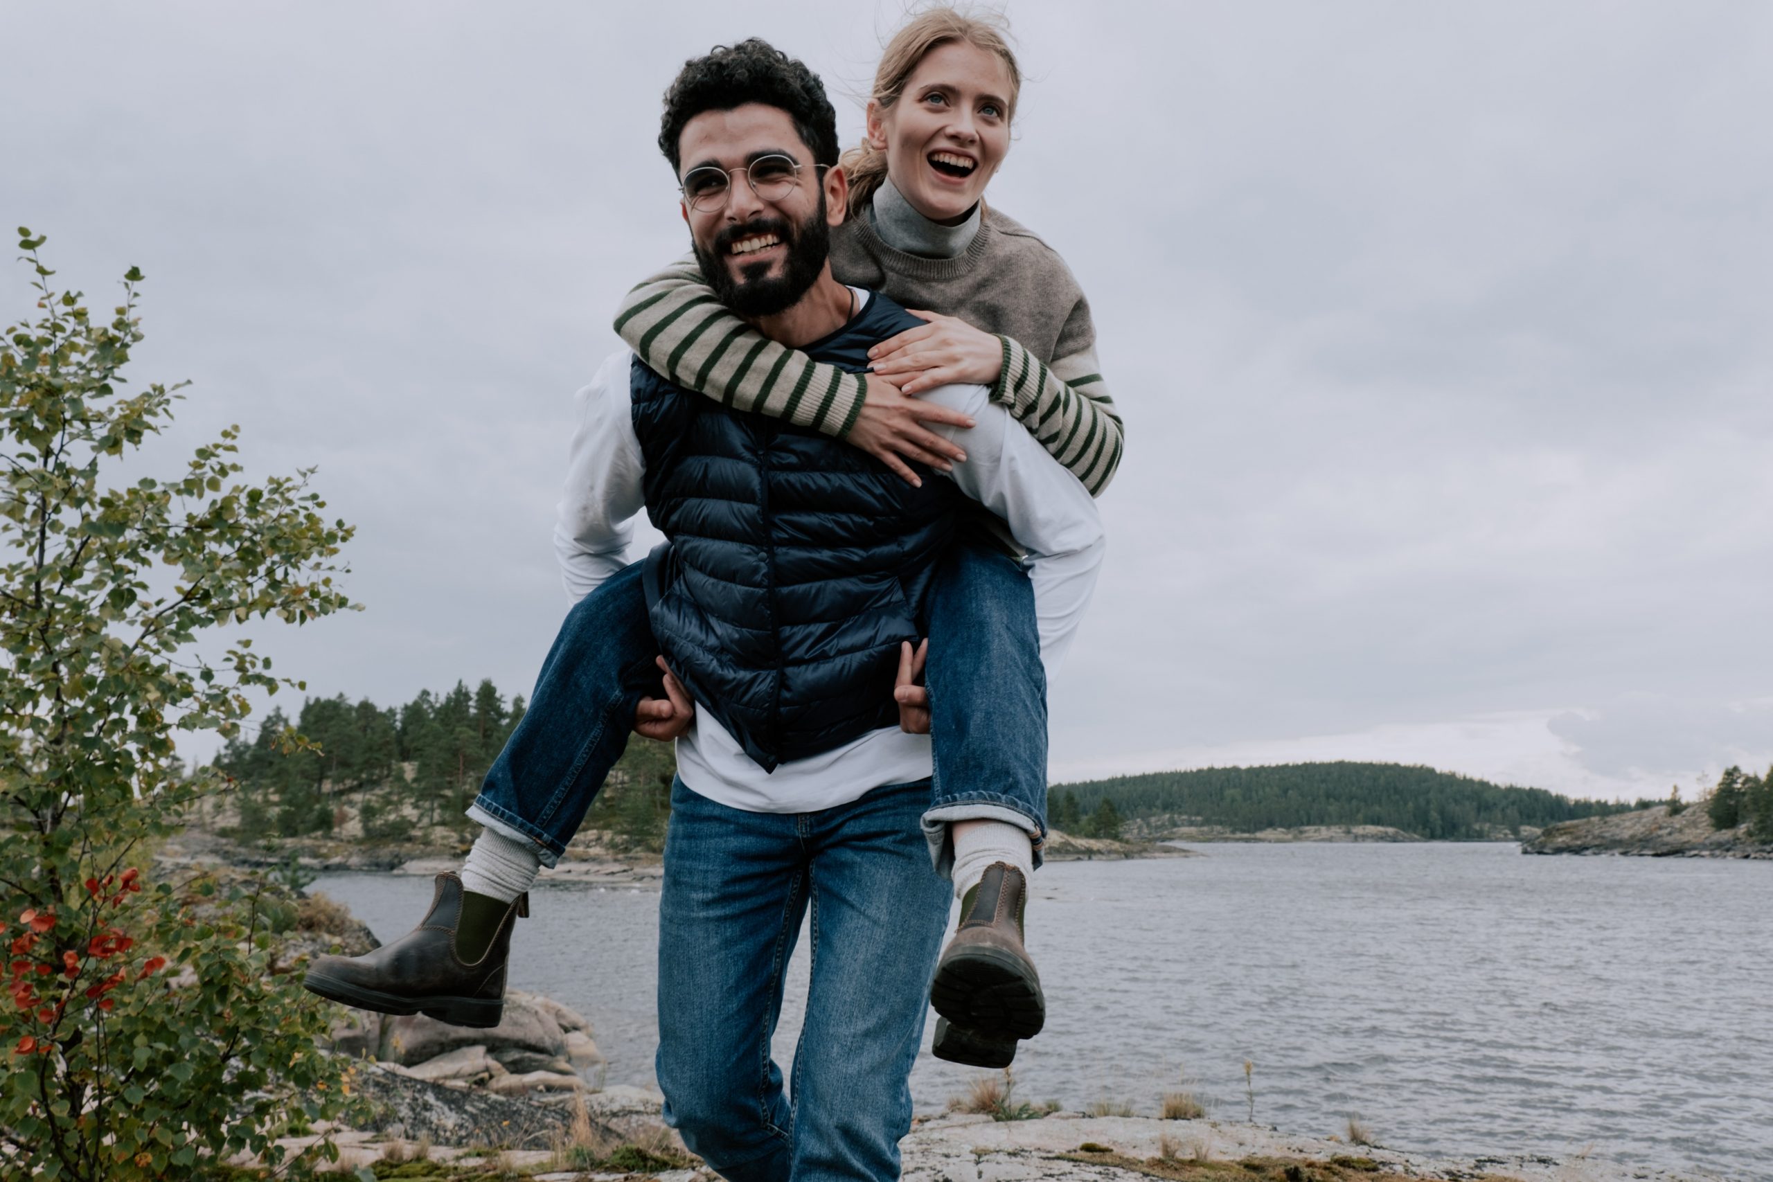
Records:
M917 833L927 805L927 780L812 813L743 812L672 785L658 1081L665 1124L730 1182L899 1177L950 898ZM769 1038L808 911L791 1104Z

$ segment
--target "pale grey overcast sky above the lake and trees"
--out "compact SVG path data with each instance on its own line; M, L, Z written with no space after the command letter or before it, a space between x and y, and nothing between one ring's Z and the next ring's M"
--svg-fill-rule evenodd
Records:
M762 35L853 142L901 12L0 0L0 223L98 307L147 273L135 377L193 381L158 466L238 422L358 526L367 611L282 670L528 693L573 390L686 243L661 90ZM1128 425L1055 776L1773 760L1773 5L1007 14L991 198L1078 275Z

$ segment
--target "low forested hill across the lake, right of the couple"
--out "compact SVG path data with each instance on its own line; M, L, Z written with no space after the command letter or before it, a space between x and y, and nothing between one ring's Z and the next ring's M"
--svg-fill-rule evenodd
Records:
M1067 799L1069 797L1069 799ZM1438 842L1486 840L1631 805L1573 801L1404 764L1284 764L1115 776L1053 789L1050 810L1092 815L1103 799L1126 820L1223 826L1236 833L1296 826L1388 826Z

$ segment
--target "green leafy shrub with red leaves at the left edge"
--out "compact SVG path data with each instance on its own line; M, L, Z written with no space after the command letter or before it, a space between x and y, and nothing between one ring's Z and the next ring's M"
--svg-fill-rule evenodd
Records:
M346 1079L314 1044L328 1007L269 976L271 891L133 867L225 787L183 773L176 732L234 734L246 691L294 684L250 640L199 634L351 606L330 564L351 530L307 473L238 482L232 427L172 480L131 461L106 487L177 397L121 390L142 275L101 323L21 239L41 315L0 340L0 1161L64 1182L278 1161L271 1141L337 1116Z

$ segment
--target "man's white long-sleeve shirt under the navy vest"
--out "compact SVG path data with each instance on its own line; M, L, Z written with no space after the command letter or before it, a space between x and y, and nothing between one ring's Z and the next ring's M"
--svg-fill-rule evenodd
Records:
M865 301L867 292L858 292ZM645 461L635 436L628 351L610 356L578 392L578 424L566 494L555 521L555 555L567 594L578 601L628 565L633 519L645 507ZM1096 502L984 386L941 386L924 395L957 409L973 427L933 429L966 452L954 484L998 514L1030 560L1041 661L1051 684L1083 618L1106 551ZM695 725L677 739L677 774L713 801L748 812L814 812L846 805L869 789L931 774L929 735L897 727L810 758L759 767L699 702Z

